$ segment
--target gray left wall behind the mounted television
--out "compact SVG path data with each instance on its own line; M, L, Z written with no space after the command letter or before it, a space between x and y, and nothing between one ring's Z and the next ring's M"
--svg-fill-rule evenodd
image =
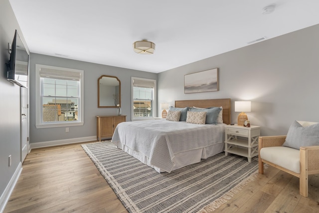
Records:
M8 0L0 6L0 196L9 184L21 161L20 155L20 87L6 80L5 63L10 54L8 43L12 43L14 30L23 39ZM8 156L12 164L8 166Z

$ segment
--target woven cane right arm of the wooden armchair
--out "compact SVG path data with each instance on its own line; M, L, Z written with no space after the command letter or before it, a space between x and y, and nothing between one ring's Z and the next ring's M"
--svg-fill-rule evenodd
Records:
M319 173L319 146L300 147L300 163L306 164L309 174Z

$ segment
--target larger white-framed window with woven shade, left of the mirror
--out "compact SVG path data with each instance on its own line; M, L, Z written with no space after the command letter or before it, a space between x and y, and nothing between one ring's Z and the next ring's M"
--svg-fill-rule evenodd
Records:
M36 64L36 128L83 125L83 70Z

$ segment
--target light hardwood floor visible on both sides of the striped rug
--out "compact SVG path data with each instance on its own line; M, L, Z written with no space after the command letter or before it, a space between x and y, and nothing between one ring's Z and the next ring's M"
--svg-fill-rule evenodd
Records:
M127 213L79 144L33 149L4 213ZM299 179L269 167L214 213L318 213L319 176L309 197Z

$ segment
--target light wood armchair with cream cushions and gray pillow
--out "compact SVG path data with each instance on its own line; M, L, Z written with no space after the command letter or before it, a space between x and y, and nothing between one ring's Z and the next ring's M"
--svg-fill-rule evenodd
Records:
M308 177L319 174L319 123L295 121L287 136L259 137L259 173L264 163L300 179L300 195L308 197Z

